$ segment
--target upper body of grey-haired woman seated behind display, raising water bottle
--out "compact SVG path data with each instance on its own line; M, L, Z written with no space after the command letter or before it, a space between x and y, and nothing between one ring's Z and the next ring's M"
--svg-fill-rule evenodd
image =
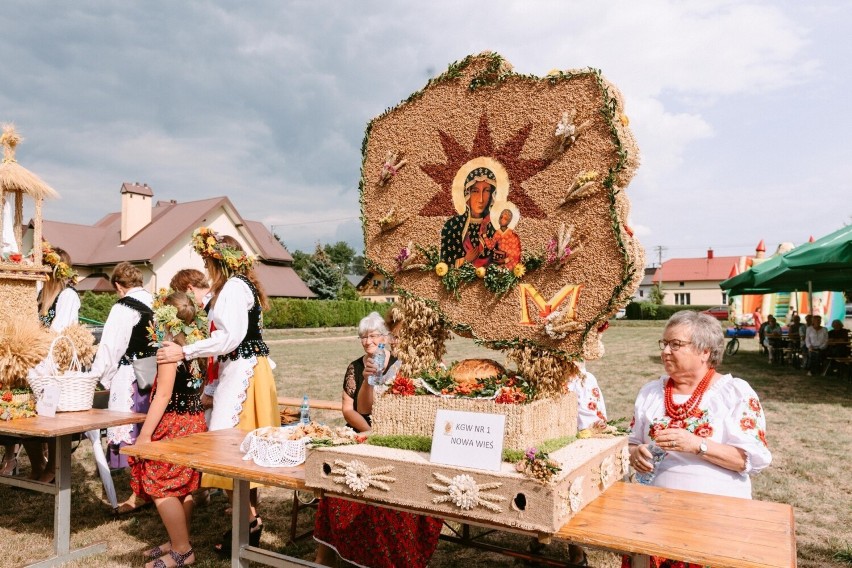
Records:
M381 369L384 374L396 363L396 357L390 354L388 347L393 337L388 332L385 320L377 312L373 312L358 324L358 339L364 354L346 368L343 377L343 418L350 428L357 432L370 430L370 414L373 410L373 386L367 379L375 371L373 357L379 350L379 345L385 345L385 365Z

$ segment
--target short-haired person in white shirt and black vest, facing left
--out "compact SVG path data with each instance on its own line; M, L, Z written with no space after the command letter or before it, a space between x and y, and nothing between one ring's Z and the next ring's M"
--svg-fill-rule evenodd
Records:
M104 324L92 374L99 376L104 388L109 389L110 410L145 413L150 405L150 389L139 391L133 361L156 354L156 349L148 344L147 332L153 323L151 304L154 298L142 288L142 272L129 262L120 262L115 267L110 282L119 300ZM119 450L133 444L141 428L141 424L136 424L107 429L107 456L111 468L127 467L127 456L119 454ZM134 502L131 496L131 500L122 503L119 512L132 510Z

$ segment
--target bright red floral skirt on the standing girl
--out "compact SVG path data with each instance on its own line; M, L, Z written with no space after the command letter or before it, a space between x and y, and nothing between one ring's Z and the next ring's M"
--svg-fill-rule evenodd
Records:
M167 412L157 425L151 441L183 438L207 431L204 413L178 414ZM171 463L128 458L130 488L145 501L164 497L184 497L201 485L201 474L192 469Z

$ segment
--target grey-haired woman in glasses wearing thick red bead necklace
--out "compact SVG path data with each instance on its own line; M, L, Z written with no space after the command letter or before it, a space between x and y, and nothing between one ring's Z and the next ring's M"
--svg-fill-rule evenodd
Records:
M724 352L719 322L677 312L659 345L666 372L636 398L631 465L640 473L654 469L654 441L666 455L653 485L751 499L749 476L772 461L766 418L748 383L716 370Z

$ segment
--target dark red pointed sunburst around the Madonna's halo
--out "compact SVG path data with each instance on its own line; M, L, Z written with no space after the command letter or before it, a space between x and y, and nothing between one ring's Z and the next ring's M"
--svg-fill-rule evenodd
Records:
M511 184L510 194L512 203L518 206L521 215L533 219L543 219L547 214L527 195L521 186L523 182L543 170L550 162L545 159L525 160L520 157L524 144L532 132L532 124L518 130L500 148L494 147L488 117L479 117L479 128L473 139L470 150L465 149L452 136L438 131L441 147L447 156L443 164L423 164L420 166L430 178L441 187L440 191L420 210L423 217L452 217L456 215L453 208L453 178L465 163L480 156L488 156L500 162L509 174Z

